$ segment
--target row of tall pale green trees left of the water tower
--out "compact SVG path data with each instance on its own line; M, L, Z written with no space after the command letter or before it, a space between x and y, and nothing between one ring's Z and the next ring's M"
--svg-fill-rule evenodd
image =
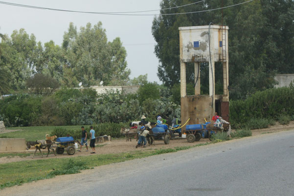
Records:
M120 38L108 41L106 30L99 22L88 23L79 30L73 23L64 33L61 46L52 40L44 45L24 29L11 36L1 35L0 94L27 88L27 80L36 73L54 78L66 87L122 85L129 81L126 49Z

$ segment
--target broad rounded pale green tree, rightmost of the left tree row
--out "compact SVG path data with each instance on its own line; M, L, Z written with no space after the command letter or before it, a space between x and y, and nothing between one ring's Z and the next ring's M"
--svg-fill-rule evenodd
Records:
M130 71L126 69L126 50L119 38L107 41L102 23L81 27L80 32L70 23L62 44L65 64L83 86L123 83Z

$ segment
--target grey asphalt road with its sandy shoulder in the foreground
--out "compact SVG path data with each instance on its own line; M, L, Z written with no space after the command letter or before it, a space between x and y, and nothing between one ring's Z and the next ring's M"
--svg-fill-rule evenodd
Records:
M294 130L111 164L18 188L22 192L15 189L13 195L294 196Z

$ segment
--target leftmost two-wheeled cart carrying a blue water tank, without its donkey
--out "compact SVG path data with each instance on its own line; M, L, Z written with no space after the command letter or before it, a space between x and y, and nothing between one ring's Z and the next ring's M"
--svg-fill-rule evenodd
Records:
M55 144L57 144L56 147L56 153L57 154L63 154L65 149L67 149L68 155L73 155L75 153L75 142L79 143L78 140L74 140L73 137L61 137L57 138Z

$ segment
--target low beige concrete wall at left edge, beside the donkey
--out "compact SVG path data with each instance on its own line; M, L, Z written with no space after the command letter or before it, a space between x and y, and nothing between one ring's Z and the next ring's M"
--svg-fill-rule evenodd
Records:
M0 138L0 152L23 151L26 149L23 138Z

